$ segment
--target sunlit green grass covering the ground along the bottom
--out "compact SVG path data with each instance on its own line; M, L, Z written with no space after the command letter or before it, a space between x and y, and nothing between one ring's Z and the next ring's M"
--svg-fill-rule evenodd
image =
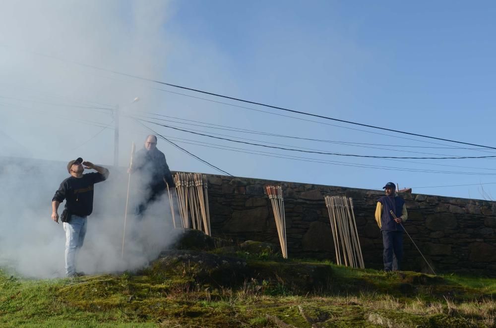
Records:
M379 321L398 327L495 325L496 279L319 262L332 276L328 286L310 292L288 283L281 268L291 276L295 266L314 268L315 261L263 258L248 262L280 273L280 280L215 287L196 281L191 268L51 280L0 270L0 327L276 327L274 320L309 328L380 327Z

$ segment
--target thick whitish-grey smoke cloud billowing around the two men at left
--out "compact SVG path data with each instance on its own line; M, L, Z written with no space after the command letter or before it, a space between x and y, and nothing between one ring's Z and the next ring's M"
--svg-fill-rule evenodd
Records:
M67 162L77 157L111 171L95 185L78 271L135 270L173 241L167 194L136 221L139 197L131 193L121 258L124 167L131 141L139 149L150 133L127 115L153 108L157 99L142 82L89 67L160 76L168 52L162 29L173 12L169 1L1 1L0 267L63 276L65 233L51 219L51 200L68 177ZM133 103L135 97L140 101ZM109 166L116 107L119 169Z

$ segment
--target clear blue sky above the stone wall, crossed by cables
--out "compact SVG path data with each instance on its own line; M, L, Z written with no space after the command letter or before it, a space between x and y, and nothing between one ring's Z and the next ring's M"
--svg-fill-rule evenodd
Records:
M496 155L496 150L454 149L465 146L308 116L292 115L333 125L206 102L153 88L219 99L18 52L27 49L236 98L496 147L492 128L496 85L496 4L493 2L185 0L150 1L147 4L90 1L88 6L81 6L78 1L64 5L49 3L53 5L40 6L41 14L33 14L32 20L38 22L37 25L27 19L3 23L2 31L22 31L21 41L6 38L4 45L8 47L0 48L0 54L3 51L0 58L11 73L9 76L16 77L16 86L32 90L41 88L39 83L26 81L43 81L43 91L47 94L54 95L59 90L57 93L65 99L120 104L134 114L141 110L261 132L356 143L344 146L174 123L184 129L204 131L201 132L204 134L220 133L258 143L288 145L281 147L370 156ZM12 6L15 9L15 5ZM71 13L74 7L82 11L77 17ZM14 16L15 13L25 14L20 9L13 12ZM61 12L68 18L61 20ZM40 32L43 30L40 26L50 31L49 38ZM17 55L12 55L16 51ZM50 66L50 70L36 75L41 66ZM26 70L26 67L31 69ZM57 74L50 73L54 70ZM26 78L33 74L38 79ZM12 78L2 80L0 82L12 85ZM76 81L74 84L77 85L67 86L67 81ZM18 88L14 91L22 99L32 96L32 92L20 92ZM5 96L5 92L0 96ZM135 96L140 97L140 102L127 105ZM91 116L104 126L111 122L105 113L78 115L84 119ZM148 117L164 119L156 115ZM70 134L70 129L58 129L60 123L51 119L44 122L49 128L33 128L31 137L26 136L23 129L28 121L29 117L22 117L12 118L9 124L5 124L5 120L0 123L4 134L28 149L26 154L65 161L74 157L73 153L77 151L95 162L112 163L113 131L106 129L99 133L102 127L86 126L69 144L65 136ZM127 144L131 140L140 144L145 131L129 118L123 117L121 121L124 132L120 163L126 165ZM417 187L414 192L467 198L484 198L481 185L477 184L496 182L496 178L487 175L496 173L493 159L397 162L295 153L149 126L176 138L178 145L191 153L238 176L377 189L385 182L393 181L400 187ZM96 133L99 134L87 141ZM43 146L37 142L54 138L62 139L58 147L49 147L48 152L39 151ZM236 153L186 144L178 138L347 164L308 163ZM78 148L71 151L74 147ZM216 173L164 141L159 143L159 148L166 154L172 169ZM356 165L374 165L375 168ZM409 171L401 170L405 168ZM428 169L437 172L415 171ZM458 184L475 185L418 188ZM494 189L491 184L482 186L488 193Z

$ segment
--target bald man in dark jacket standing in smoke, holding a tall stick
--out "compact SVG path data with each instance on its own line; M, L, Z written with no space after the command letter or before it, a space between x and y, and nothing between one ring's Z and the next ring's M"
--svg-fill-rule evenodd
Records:
M142 200L136 208L138 216L144 214L149 204L160 199L167 185L176 187L165 155L157 149L157 137L153 134L146 137L144 147L136 153L129 172L139 175Z

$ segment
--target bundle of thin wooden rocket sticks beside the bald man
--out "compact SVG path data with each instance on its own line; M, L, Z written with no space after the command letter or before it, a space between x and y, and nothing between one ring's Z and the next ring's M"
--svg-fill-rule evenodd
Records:
M178 195L179 213L183 228L202 230L210 236L208 183L200 173L177 173L174 176ZM189 224L191 216L191 226Z

